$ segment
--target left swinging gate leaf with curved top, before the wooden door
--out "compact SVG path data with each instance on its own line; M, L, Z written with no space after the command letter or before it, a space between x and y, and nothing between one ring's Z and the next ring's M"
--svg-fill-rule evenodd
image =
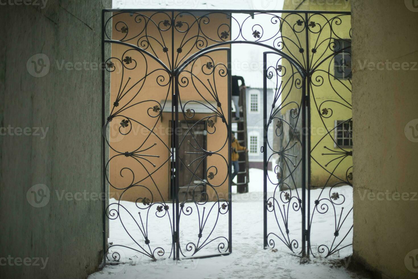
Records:
M230 110L227 105L222 107L223 103L228 103L230 97L229 94L225 94L228 92L229 71L227 61L216 62L214 59L219 55L229 57L229 51L229 48L213 49L199 55L184 65L176 76L178 117L186 127L184 135L178 135L176 168L183 167L191 174L186 181L185 192L192 193L178 200L178 225L182 232L178 239L178 251L183 257L198 256L204 249L206 253L213 250L227 253L230 247L228 234L224 235L222 230L219 230L219 223L223 223L222 228L228 228L230 216L227 213L230 200L229 197L220 196L222 192L218 192L218 188L225 187L225 184L228 192L230 191L227 171L230 169ZM194 109L196 107L205 108L206 113L198 113ZM196 140L196 127L199 125L205 128L207 141L212 143L210 146L203 146ZM205 171L198 174L197 169L204 163ZM196 195L197 189L202 186L205 190ZM194 232L181 230L181 224L186 222L196 224ZM211 246L214 248L211 249Z

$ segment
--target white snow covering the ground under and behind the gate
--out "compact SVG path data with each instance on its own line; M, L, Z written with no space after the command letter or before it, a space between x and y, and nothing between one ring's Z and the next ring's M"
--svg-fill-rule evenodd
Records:
M274 174L271 176L273 177ZM268 185L268 189L274 189L273 184ZM275 242L275 247L273 249L268 248L264 250L262 170L250 169L249 190L249 193L234 194L232 196L232 253L230 255L205 259L184 259L179 261L173 261L171 258L168 259L171 243L171 226L168 215L163 218L149 218L148 228L150 228L150 232L148 238L151 241L150 246L152 246L153 249L155 248L156 251L160 249L159 247L163 248L165 254L157 261L151 261L149 257L143 256L131 249L115 247L115 249L112 250L120 254L120 264L107 265L101 271L91 274L89 279L357 278L355 274L350 273L346 269L346 266L349 265L349 259L342 262L338 261L338 259L349 256L352 253L352 246L342 249L327 259L322 259L320 257L313 258L309 263L301 263L298 257L289 253L290 251L288 247L286 247L283 242L278 240L278 238L273 238ZM321 189L311 191L311 211L315 206L314 200L318 199L320 192ZM342 210L342 208L338 205L333 206L329 202L329 210L325 214L319 214L318 212L314 213L311 242L314 247L313 250L316 253L318 253L318 247L321 248L321 244L326 244L328 247L333 245L334 247L336 243L339 243L342 240L347 232L349 232L347 237L344 241L342 241L339 247L352 243L352 230L350 230L352 225L352 211L349 212L352 207L352 188L349 186L334 187L331 192L329 192L329 189L325 189L319 199L325 197L329 198L334 192L337 192L339 194L339 199L336 203L338 203L338 201L342 201L342 198L345 197L345 209ZM270 195L271 194L269 194L269 196ZM121 202L121 204L132 214L135 214L138 211L134 202ZM206 208L211 207L213 204L213 202L208 202L206 204ZM322 204L323 202L319 205ZM334 208L337 213L336 216L334 215ZM186 216L184 217L184 220L181 220L181 247L183 247L182 251L186 254L186 256L188 255L187 253L191 253L186 251L186 244L190 241L196 243L196 236L199 228L199 222L193 221L196 220L197 215L194 216L197 214L196 212L197 210L194 210L190 216L187 216L187 218L190 218L189 220L191 221L187 221ZM340 219L341 212L343 212L343 214ZM349 214L347 215L348 212ZM294 211L290 208L286 214L289 216L288 229L290 231L290 240L293 238L296 239L300 246L300 211ZM212 215L216 216L216 214L213 213ZM218 223L211 235L211 239L214 237L228 236L227 215L228 214L220 215L221 217L218 219ZM347 218L341 226L342 220L346 215ZM278 220L280 226L284 228L283 223L280 223L283 222L281 221L283 219L279 217ZM110 220L109 241L113 242L113 244L138 249L138 245L132 240L132 238L129 237L129 235L127 235L120 222L117 221L118 220ZM209 224L207 227L212 228L213 222L214 220L208 218ZM124 225L130 232L131 236L139 242L139 239L142 237L140 235L135 235L135 231L138 231L135 221L131 218L131 221L124 222ZM340 226L341 228L339 228ZM334 232L336 227L339 228L340 235L337 236L334 241ZM269 212L268 214L268 233L270 232L275 232L280 235L280 230L277 222L275 221L273 212ZM202 239L204 238L205 235L203 235ZM214 241L209 243L209 245L202 249L202 253L199 255L203 255L204 253L217 253L218 244L220 242L222 242L221 239L218 242ZM143 238L140 240L140 244L143 245ZM224 250L226 250L226 246Z

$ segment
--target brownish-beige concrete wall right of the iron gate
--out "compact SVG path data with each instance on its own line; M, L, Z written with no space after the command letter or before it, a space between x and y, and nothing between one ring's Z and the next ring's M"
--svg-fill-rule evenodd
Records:
M383 278L418 276L410 258L418 254L418 9L412 3L352 1L353 250ZM362 69L364 62L371 67Z

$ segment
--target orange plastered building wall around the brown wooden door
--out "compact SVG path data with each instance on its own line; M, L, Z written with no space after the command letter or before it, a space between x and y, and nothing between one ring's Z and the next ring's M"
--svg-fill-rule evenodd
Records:
M151 17L152 20L149 20L149 17ZM143 13L143 15L133 13L132 16L130 13L114 13L114 17L112 18L112 39L122 39L129 44L140 46L150 54L153 54L153 56L158 57L168 69L172 69L172 31L169 25L164 25L166 24L166 20L171 21L170 17L171 13ZM229 24L230 21L225 15L216 14L211 15L211 20L218 25L222 23ZM194 47L189 52L194 43L194 40L190 40L189 43L183 47L183 51L180 53L177 51L177 48L181 44L184 44L187 39L196 36L198 33L196 23L190 29L186 38L184 38L184 33L181 32L185 30L186 23L188 23L189 26L192 26L192 23L194 22L194 17L192 15L184 14L181 17L176 18L176 22L178 21L181 21L183 26L182 28L177 27L174 30L174 64L176 67L183 63L191 54L194 54L199 50ZM138 36L145 27L145 22L148 26L148 41L145 40L143 34ZM167 31L158 30L156 25ZM125 32L126 26L128 28L127 32ZM203 27L202 30L207 36L217 36L217 30L214 30L213 28L205 29ZM157 41L160 43L164 42L164 44L160 45ZM208 40L206 46L211 44L214 44L214 42ZM164 46L167 49L163 49ZM122 67L122 62L120 61L125 59L126 56L132 59L130 64L125 63L125 66L130 68L130 70ZM212 60L208 57L197 59L192 72L204 82L205 86L201 84L197 87L199 92L201 92L206 100L213 102L213 97L209 95L211 87L206 80L208 76L204 74L202 66L209 60L212 61L214 65L226 65L227 51L213 52L210 54L210 57ZM170 80L170 74L168 74L163 67L151 57L141 54L129 46L120 44L112 44L112 59L110 59L110 61L114 63L110 83L110 110L112 111L112 114L115 114L126 105L122 111L116 113L115 117L110 122L110 163L107 166L107 169L109 170L108 177L113 186L110 186L110 197L119 199L123 189L131 184L135 184L141 186L128 189L121 197L121 200L136 201L140 198L139 202L142 202L142 198L147 197L151 202L166 201L170 197L169 192L171 183L171 112L161 113L161 109L166 105L169 105L169 111L171 111L170 101L172 81ZM222 67L222 65L216 66L215 68L219 70L220 67ZM186 69L190 70L191 65ZM193 87L190 74L180 74L179 80L181 81L182 77L186 75L189 77L189 85L187 87L179 87L181 100L201 100L202 102L205 102L203 97L200 96ZM146 78L144 79L145 76ZM225 118L228 123L227 76L221 77L215 75L214 80L212 79L211 82L212 85L216 83L219 102L223 104L222 109L226 114ZM209 88L209 90L207 88ZM119 96L125 95L120 99L118 94ZM117 98L120 100L118 101L118 106L115 107L114 102ZM169 103L166 104L166 101L169 101ZM127 105L128 102L130 102L129 105ZM155 106L156 111L153 110ZM121 127L120 123L122 120L127 120L127 118L132 118L138 121L138 123L131 120L127 127ZM185 120L185 116L181 113L180 106L179 120ZM188 120L190 122L190 119ZM228 146L226 145L223 148L219 148L219 139L222 138L227 140L226 125L218 118L215 126L217 128L216 133L213 135L208 134L207 136L207 150L215 151L220 149L218 153L228 159ZM210 128L208 129L210 130ZM152 130L153 133L151 133L150 130ZM115 157L115 155L118 154L116 151L124 153L126 151L131 152L136 150L141 151L138 152L137 155L142 158L138 158L138 156L136 158L132 156ZM222 198L226 198L228 193L228 179L224 178L228 175L228 167L224 164L223 160L221 161L217 157L219 156L209 156L206 164L208 168L212 165L217 166L218 173L210 180L210 182L217 186L216 190L218 195ZM213 169L209 171L213 171ZM208 195L211 200L217 200L217 195L211 187L208 187Z

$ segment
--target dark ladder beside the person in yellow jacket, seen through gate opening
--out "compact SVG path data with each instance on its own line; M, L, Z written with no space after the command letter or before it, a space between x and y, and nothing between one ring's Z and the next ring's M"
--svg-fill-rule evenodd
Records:
M247 100L245 95L245 88L242 88L240 91L240 119L232 120L232 123L237 123L237 131L232 131L237 133L237 140L242 145L248 148L247 142ZM238 108L238 109L240 109ZM250 174L248 171L248 153L245 150L238 150L238 163L240 164L240 171L237 174L237 192L238 193L247 193L248 192L248 182L250 182Z

